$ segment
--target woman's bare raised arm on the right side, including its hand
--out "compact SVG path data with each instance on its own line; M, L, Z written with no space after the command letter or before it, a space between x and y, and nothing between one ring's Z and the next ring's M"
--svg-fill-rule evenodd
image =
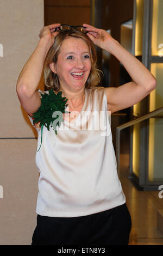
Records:
M111 113L135 105L156 88L156 79L151 72L109 33L87 24L83 26L87 27L87 35L94 44L120 60L133 80L117 88L105 88L108 110Z

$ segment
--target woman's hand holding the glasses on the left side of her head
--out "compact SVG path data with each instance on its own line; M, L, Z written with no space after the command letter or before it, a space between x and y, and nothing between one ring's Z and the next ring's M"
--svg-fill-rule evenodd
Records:
M59 33L58 31L55 31L55 28L59 27L60 23L54 23L48 26L45 26L41 29L39 38L47 38L50 42L50 45L52 46L54 44L55 36Z

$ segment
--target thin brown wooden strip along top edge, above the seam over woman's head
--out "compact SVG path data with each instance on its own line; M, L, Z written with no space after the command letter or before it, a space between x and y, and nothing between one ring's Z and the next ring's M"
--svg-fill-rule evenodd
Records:
M45 0L44 1L45 5L55 5L55 6L60 6L60 5L64 5L64 6L91 6L91 0Z

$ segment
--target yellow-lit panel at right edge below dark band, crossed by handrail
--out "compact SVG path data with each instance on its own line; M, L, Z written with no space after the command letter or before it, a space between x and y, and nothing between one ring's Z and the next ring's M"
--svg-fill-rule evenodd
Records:
M163 63L152 63L151 72L158 85L149 95L149 112L163 106L162 88ZM159 116L163 116L163 112ZM162 177L162 118L149 119L148 179L155 181Z

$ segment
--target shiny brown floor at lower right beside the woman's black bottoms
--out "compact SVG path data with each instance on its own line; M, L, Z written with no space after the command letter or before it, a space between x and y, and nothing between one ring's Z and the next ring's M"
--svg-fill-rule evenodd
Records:
M129 155L121 154L120 161L120 180L132 221L129 245L163 245L157 229L157 209L163 209L163 198L157 191L138 191L128 179Z

